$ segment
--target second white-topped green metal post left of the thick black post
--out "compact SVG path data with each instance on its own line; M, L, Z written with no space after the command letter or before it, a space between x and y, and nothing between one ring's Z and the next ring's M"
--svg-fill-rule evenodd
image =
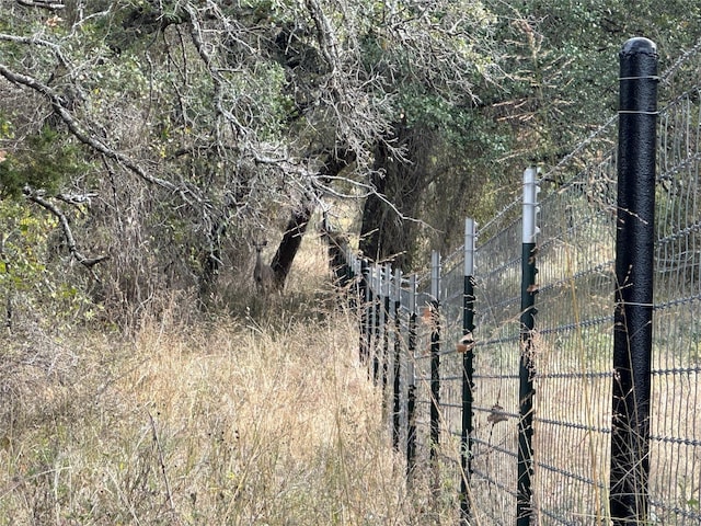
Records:
M460 517L462 524L469 524L470 502L468 482L472 471L472 402L474 373L472 365L474 348L474 251L475 233L474 219L464 221L464 272L462 297L462 340L459 350L462 354L462 433L460 436L460 460L462 480L460 484Z

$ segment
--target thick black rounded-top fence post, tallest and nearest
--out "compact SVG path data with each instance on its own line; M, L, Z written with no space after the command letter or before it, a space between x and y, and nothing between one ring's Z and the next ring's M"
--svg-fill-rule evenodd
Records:
M657 48L620 53L616 315L610 507L614 525L647 524L653 320Z

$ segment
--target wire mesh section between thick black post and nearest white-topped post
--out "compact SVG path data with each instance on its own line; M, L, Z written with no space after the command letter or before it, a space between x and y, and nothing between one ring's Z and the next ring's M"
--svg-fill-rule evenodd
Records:
M551 524L602 524L608 499L614 157L596 159L541 202L533 499Z

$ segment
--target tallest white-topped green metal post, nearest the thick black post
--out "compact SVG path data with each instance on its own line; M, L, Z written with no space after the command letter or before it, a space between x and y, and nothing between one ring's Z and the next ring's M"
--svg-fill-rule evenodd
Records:
M518 484L517 526L528 526L532 515L531 479L533 476L533 329L536 308L536 236L538 233L537 168L524 172L524 218L521 248L521 334L518 390Z

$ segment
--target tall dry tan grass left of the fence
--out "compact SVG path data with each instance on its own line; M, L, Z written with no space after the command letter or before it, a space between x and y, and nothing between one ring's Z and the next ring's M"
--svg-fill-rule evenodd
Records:
M348 312L5 343L0 525L427 524Z

